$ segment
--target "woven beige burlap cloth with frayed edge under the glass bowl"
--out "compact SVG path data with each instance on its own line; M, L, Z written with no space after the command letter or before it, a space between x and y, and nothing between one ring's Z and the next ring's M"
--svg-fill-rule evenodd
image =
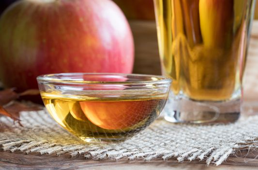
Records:
M83 155L88 159L129 160L176 158L206 160L220 165L229 154L258 148L258 116L233 124L184 125L156 120L149 128L122 143L85 144L62 129L47 111L21 112L24 127L0 117L0 149L24 153Z

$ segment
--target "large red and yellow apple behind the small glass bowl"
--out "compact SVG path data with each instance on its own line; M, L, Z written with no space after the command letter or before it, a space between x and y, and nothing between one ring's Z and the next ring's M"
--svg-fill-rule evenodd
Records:
M130 26L111 0L20 0L0 17L0 81L17 91L61 72L131 73Z

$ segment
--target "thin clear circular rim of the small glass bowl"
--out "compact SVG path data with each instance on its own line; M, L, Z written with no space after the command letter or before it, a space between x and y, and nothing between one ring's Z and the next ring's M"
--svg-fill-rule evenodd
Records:
M153 80L144 80L144 81L87 81L87 80L73 80L73 79L59 79L51 78L52 76L69 76L69 75L113 75L113 76L137 76L137 77L150 77ZM124 73L54 73L54 74L43 74L37 77L37 81L41 83L61 83L61 84L109 84L109 85L118 85L118 84L170 84L172 80L166 76L161 75L152 75L152 74L124 74Z

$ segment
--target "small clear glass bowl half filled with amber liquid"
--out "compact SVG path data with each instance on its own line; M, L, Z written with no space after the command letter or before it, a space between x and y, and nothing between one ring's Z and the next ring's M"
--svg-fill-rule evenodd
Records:
M123 141L160 114L171 80L118 73L61 73L37 77L51 116L86 142Z

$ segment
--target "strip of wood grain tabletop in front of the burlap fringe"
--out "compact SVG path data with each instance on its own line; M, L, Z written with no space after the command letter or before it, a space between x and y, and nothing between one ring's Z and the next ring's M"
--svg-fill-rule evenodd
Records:
M24 153L0 153L0 169L92 169L92 170L190 170L190 169L201 169L201 170L257 170L258 159L255 157L258 152L243 151L237 153L237 155L230 155L227 162L220 166L210 165L206 166L205 161L194 161L178 163L175 159L169 159L164 161L162 159L154 160L151 162L145 162L141 160L128 161L128 160L85 160L83 157L73 157L70 155L40 155L40 154L29 154Z

